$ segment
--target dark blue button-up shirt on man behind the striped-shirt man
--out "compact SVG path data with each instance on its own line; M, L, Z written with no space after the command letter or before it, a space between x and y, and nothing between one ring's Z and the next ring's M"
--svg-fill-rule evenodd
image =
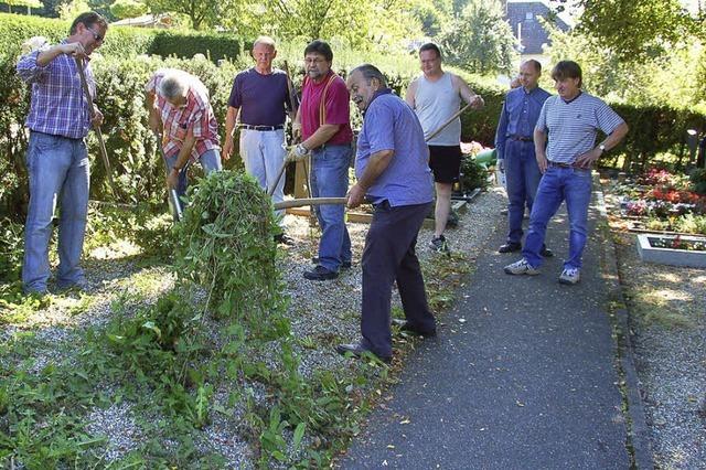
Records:
M511 136L528 137L534 135L534 126L539 118L544 102L552 96L538 86L527 93L524 86L507 92L500 122L495 132L498 158L505 158L505 140Z

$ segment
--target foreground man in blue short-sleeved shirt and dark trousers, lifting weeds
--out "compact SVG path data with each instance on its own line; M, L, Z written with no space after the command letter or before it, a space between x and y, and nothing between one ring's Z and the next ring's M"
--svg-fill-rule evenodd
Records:
M375 212L363 250L362 339L341 344L340 354L365 352L389 362L393 354L391 297L397 282L406 321L405 331L432 337L436 321L429 311L419 260L417 233L434 200L429 151L419 119L387 87L373 65L349 74L347 88L365 113L357 139L355 177L347 194L349 207L364 199Z

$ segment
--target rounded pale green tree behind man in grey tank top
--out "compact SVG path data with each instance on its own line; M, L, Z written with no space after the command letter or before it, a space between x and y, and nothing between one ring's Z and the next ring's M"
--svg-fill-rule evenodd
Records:
M470 0L440 35L447 61L480 74L510 72L515 39L500 1Z

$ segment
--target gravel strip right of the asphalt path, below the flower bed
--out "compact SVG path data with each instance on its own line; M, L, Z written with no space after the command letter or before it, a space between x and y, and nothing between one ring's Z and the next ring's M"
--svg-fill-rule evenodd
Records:
M706 273L642 263L616 211L611 227L655 466L706 469Z

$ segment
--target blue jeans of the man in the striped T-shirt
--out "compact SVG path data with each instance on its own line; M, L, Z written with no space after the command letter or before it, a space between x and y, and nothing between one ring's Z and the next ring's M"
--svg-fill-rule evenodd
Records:
M591 171L549 167L539 182L530 215L530 231L522 249L522 255L534 268L539 267L544 260L539 253L547 224L561 201L566 201L569 214L569 257L564 260L564 268L581 267L588 231L588 205L591 202Z

